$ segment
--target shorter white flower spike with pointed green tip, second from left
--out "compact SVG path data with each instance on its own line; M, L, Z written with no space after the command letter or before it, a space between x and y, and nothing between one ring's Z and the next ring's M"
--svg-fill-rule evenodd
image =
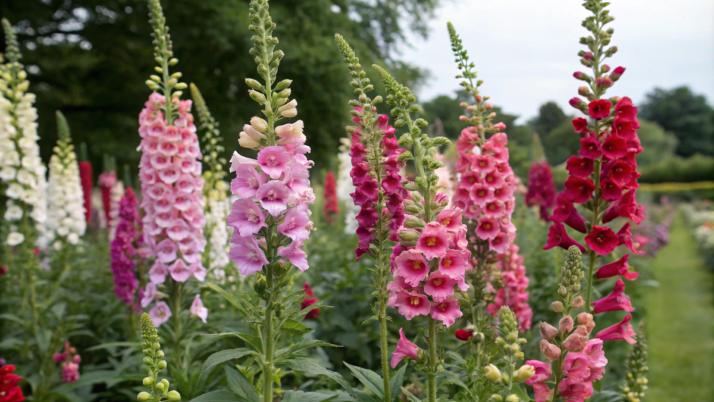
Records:
M48 228L56 237L54 248L61 250L66 243L76 245L86 230L84 190L79 177L79 165L69 136L69 125L64 115L57 112L59 139L54 155L49 160Z

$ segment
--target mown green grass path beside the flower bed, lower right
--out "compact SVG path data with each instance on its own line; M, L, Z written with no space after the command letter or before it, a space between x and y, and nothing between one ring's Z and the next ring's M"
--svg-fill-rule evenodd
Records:
M650 267L659 288L648 295L645 401L714 401L714 275L681 219L670 236Z

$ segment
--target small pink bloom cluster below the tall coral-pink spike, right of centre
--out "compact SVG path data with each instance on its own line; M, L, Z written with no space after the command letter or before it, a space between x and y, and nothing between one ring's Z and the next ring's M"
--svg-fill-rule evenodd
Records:
M523 266L523 255L518 254L518 250L518 245L511 242L506 253L496 256L503 287L498 289L493 303L486 310L496 316L501 307L508 306L518 318L518 330L524 332L531 328L533 310L528 305L528 277L526 267Z

